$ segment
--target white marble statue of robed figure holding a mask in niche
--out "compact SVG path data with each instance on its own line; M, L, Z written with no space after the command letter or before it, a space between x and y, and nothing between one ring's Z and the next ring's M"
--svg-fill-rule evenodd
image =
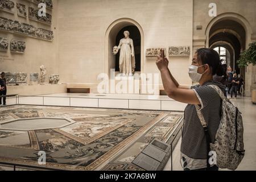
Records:
M123 76L133 76L135 71L135 56L133 39L130 39L129 31L124 31L125 38L121 39L118 47L113 48L113 54L116 55L120 50L119 69Z

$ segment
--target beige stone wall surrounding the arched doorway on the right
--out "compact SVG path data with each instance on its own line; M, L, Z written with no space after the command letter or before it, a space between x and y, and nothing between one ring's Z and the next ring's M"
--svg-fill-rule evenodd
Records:
M210 10L209 3L216 3L217 17L210 17L208 12ZM221 16L224 19L234 20L245 27L246 40L245 46L248 48L250 42L256 41L256 1L211 1L211 0L194 0L193 1L193 52L200 47L208 47L207 27L210 27L211 22ZM209 25L209 26L208 26ZM201 26L201 30L197 27ZM239 32L239 30L236 30ZM250 65L246 69L246 96L250 96L251 89L256 82L256 67Z

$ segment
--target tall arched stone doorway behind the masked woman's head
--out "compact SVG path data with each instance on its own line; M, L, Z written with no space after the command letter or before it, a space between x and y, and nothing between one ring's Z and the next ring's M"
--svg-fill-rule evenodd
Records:
M234 49L234 68L245 78L246 96L250 96L251 94L252 65L249 65L249 69L238 69L236 64L241 51L249 48L249 43L252 42L252 34L253 30L250 23L237 13L223 13L216 16L209 22L205 30L205 47L212 47L213 44L216 44L217 42L226 42ZM228 44L222 43L221 46L224 47Z

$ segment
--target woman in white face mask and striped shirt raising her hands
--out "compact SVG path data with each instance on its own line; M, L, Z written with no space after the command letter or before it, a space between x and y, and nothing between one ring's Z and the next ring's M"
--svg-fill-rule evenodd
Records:
M162 51L158 56L156 65L160 70L164 90L168 97L188 104L184 111L184 130L181 140L181 165L187 170L217 171L218 167L209 167L207 137L203 126L197 116L196 105L203 114L208 125L210 143L214 143L215 135L221 119L221 98L219 94L208 85L217 85L223 92L225 86L213 81L213 76L224 75L220 56L209 48L200 48L196 51L189 66L189 77L194 86L179 85L168 69L168 60Z

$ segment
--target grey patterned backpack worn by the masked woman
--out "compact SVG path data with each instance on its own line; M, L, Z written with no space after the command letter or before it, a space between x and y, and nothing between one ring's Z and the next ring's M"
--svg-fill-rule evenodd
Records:
M221 120L215 136L214 143L210 143L207 122L205 122L203 114L196 105L197 115L204 127L205 135L208 143L209 151L216 152L216 165L219 168L228 168L235 170L241 163L245 150L243 149L243 122L240 111L224 96L224 93L216 85L209 85L216 90L222 99ZM212 154L212 152L210 153ZM207 167L210 167L210 158L207 158Z

